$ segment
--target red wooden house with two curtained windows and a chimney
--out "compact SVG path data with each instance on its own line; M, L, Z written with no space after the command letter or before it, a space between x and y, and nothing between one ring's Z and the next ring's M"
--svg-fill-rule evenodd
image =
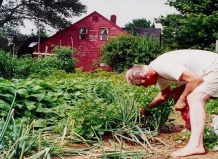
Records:
M122 33L124 30L116 25L115 15L108 20L95 11L57 32L41 42L39 46L35 46L34 56L38 56L37 52L51 53L54 45L69 46L76 49L75 58L78 60L76 67L82 67L83 71L91 71L96 68L102 45L110 37L116 37Z

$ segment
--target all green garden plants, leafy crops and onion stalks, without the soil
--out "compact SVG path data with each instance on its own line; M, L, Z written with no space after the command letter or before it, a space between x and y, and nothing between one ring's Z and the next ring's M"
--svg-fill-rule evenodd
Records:
M8 123L7 131L1 132L1 154L7 157L13 151L31 155L42 149L45 151L46 147L50 148L52 155L63 153L61 146L57 146L63 134L71 142L82 143L96 141L98 136L115 132L119 132L120 138L129 138L136 143L141 139L147 141L144 132L155 137L172 110L165 104L162 109L154 109L143 118L140 109L147 108L157 92L156 88L132 87L126 84L123 74L103 71L77 71L74 74L55 71L43 80L0 79L0 87L1 130L11 110L14 119ZM49 136L51 141L39 139L43 135ZM20 137L25 139L25 144L21 143ZM136 140L136 137L140 139ZM143 146L148 145L147 141Z

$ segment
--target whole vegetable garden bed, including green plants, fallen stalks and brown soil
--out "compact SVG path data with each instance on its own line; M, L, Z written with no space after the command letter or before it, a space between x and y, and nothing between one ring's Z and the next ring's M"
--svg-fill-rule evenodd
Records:
M0 79L1 157L168 158L189 138L180 114L172 112L174 103L143 115L140 110L147 109L156 87L134 87L124 79L116 73L62 71L46 79ZM218 157L210 149L217 136L206 132L203 158Z

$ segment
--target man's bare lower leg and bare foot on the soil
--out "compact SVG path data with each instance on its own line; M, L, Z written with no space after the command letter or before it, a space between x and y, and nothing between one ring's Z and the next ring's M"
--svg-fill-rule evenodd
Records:
M209 97L209 95L199 92L193 92L188 96L192 130L190 140L184 148L173 152L171 156L183 157L205 153L203 145L204 127L206 124L204 104Z

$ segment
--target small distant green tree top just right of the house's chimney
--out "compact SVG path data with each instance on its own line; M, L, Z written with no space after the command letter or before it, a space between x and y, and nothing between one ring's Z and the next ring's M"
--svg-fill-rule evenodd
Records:
M132 22L125 25L125 29L128 32L133 32L135 28L155 28L155 25L154 23L152 24L151 21L147 21L145 18L133 19Z

